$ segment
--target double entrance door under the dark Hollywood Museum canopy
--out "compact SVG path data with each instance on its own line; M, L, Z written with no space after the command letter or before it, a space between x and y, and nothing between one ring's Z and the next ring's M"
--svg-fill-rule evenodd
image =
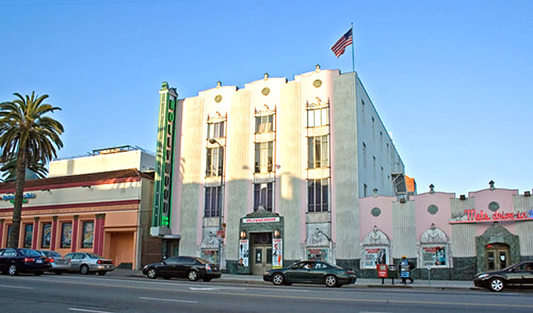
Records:
M250 249L252 275L263 275L272 268L272 234L250 234L252 248Z

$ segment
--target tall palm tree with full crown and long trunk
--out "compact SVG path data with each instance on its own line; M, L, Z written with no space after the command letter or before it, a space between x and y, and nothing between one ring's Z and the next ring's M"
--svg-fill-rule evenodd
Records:
M31 93L26 98L14 94L18 99L0 104L0 162L8 163L16 158L15 201L9 247L18 246L21 228L22 196L28 165L48 163L57 158L56 148L63 148L60 134L63 125L45 114L60 108L45 104L48 94L41 97Z

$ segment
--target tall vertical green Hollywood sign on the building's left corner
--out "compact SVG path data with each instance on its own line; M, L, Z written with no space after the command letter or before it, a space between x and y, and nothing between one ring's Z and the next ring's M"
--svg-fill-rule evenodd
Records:
M154 177L154 219L152 226L169 227L172 200L176 89L163 82L159 91L156 175Z

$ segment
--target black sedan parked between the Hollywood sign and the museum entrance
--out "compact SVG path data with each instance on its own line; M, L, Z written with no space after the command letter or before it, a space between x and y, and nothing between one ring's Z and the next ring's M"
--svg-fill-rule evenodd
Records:
M154 279L161 276L165 279L173 277L188 278L190 281L203 280L208 282L212 278L220 278L218 265L195 256L173 256L161 263L145 265L143 274Z

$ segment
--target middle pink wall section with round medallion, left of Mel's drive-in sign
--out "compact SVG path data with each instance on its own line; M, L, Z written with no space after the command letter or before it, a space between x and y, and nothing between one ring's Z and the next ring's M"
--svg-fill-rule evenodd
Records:
M420 241L424 231L430 229L433 223L435 223L436 228L441 229L448 236L448 239L451 239L451 225L449 224L451 217L450 199L455 197L456 194L446 192L435 192L434 194L426 192L409 197L411 201L414 201L417 241ZM438 207L436 214L430 214L428 212L428 207L431 204L435 204Z

